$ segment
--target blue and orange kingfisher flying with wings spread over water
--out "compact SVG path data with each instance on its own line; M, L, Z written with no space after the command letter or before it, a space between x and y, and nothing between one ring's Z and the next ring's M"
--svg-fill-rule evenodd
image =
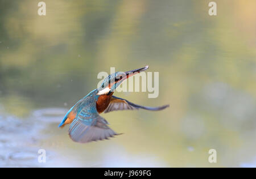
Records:
M115 110L135 109L163 110L167 108L169 105L148 107L113 96L115 88L124 80L147 69L148 66L145 66L141 69L126 71L125 73L117 72L110 74L102 81L100 87L91 91L69 109L59 127L62 128L71 123L68 130L69 137L74 142L88 143L119 135L110 129L108 121L100 116L102 112L108 113Z

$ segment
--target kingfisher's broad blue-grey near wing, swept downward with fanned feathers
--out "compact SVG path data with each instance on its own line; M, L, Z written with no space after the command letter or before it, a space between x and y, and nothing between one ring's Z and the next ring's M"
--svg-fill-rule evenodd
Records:
M86 108L82 109L69 127L69 137L75 142L87 143L118 135L107 124L108 122L98 113L90 113Z

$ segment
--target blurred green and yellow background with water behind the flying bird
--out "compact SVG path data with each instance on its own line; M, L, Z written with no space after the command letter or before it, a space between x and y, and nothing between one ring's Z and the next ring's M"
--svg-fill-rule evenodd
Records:
M1 167L256 167L256 1L38 2L0 0ZM100 71L144 65L159 97L115 95L170 108L102 114L124 134L100 142L57 127Z

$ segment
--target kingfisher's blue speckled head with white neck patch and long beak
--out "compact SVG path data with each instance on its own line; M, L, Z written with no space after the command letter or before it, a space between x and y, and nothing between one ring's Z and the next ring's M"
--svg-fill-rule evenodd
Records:
M141 69L117 72L109 75L101 83L101 86L98 88L97 95L109 95L111 92L114 92L115 88L117 88L124 80L147 69L148 66L145 66Z

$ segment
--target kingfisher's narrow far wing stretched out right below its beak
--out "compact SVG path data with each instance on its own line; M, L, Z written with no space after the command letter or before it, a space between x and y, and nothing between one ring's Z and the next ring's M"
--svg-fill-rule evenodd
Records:
M114 110L135 110L135 109L146 109L146 110L163 110L169 105L163 105L158 107L147 107L138 104L131 103L121 97L112 96L108 108L104 110L104 113L112 112Z

